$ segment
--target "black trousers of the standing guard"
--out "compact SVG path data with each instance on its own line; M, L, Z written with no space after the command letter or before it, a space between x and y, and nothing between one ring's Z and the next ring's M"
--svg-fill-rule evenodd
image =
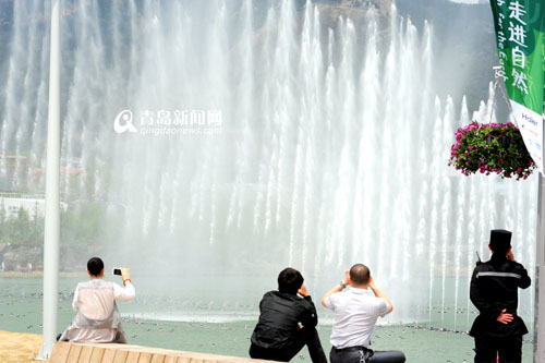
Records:
M520 363L522 361L522 336L509 338L475 338L475 363Z

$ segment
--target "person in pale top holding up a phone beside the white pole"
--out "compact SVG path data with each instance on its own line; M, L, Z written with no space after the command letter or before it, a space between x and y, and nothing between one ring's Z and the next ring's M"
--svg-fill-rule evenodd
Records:
M90 280L80 282L75 289L72 307L76 314L59 340L126 343L116 300L134 299L135 291L129 269L121 269L124 288L102 279L104 263L98 257L87 262L87 274Z

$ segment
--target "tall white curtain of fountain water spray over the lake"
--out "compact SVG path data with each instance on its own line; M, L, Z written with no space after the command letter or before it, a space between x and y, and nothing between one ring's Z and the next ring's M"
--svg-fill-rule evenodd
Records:
M435 96L432 26L392 8L389 24L370 10L329 27L293 0L64 7L63 201L108 210L86 251L140 275L128 308L240 317L288 265L317 298L362 262L395 301L389 322L465 330L489 229L513 230L532 268L535 182L447 167L456 128L495 116L491 100L470 117ZM15 1L4 33L0 178L13 191L44 189L46 13ZM532 302L521 294L526 317Z

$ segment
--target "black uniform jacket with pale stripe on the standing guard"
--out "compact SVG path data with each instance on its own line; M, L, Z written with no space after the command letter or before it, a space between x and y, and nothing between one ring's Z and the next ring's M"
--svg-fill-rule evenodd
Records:
M525 289L530 282L524 266L505 256L493 255L491 261L477 264L471 278L470 298L480 314L470 336L506 338L526 334L524 322L517 315L518 288ZM513 316L508 324L497 320L504 308Z

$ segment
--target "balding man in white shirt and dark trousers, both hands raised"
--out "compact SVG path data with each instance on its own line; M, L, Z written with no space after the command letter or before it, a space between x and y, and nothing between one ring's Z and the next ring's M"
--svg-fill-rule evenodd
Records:
M349 289L344 290L347 286ZM393 306L373 282L367 266L356 264L346 271L341 283L326 292L322 305L335 312L331 331L331 363L402 363L399 351L370 349L371 335L378 316L391 313Z

